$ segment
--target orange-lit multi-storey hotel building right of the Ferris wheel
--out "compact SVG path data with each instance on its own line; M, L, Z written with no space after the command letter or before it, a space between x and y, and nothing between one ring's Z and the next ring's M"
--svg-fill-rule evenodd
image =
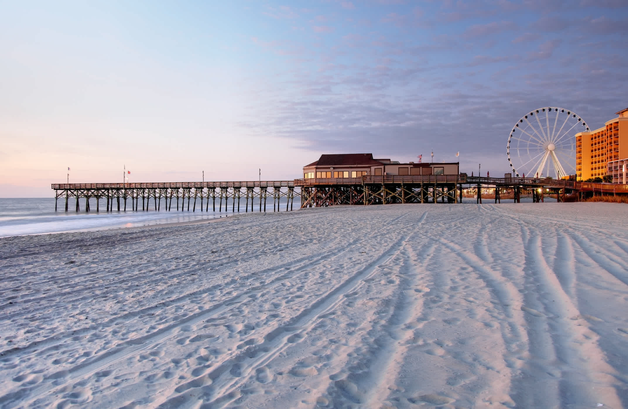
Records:
M615 114L602 128L576 134L577 180L609 174L613 183L622 183L622 171L615 166L620 166L620 158L628 158L628 108Z

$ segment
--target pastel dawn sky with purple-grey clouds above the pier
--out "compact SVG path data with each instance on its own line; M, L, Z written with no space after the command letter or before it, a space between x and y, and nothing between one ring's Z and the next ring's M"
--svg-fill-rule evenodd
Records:
M526 112L628 107L625 0L0 0L0 21L0 197L125 166L290 180L322 153L503 175Z

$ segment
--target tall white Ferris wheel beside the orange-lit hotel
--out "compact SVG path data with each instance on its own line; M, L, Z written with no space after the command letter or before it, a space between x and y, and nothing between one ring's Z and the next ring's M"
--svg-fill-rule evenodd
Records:
M576 173L576 138L588 131L573 111L539 108L517 121L508 137L506 153L517 176L561 178Z

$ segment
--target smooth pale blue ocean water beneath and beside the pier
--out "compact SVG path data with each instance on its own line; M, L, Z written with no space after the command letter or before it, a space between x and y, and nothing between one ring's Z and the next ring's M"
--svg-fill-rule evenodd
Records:
M205 202L205 205L207 203ZM240 202L240 213L244 213L245 201ZM218 212L219 204L216 202L216 210L212 211L212 204L209 205L208 212L200 212L200 201L197 201L197 208L192 212L187 210L178 212L173 203L170 212L164 211L164 204L161 204L161 211L154 210L151 202L148 211L140 209L135 212L131 210L131 201L127 202L127 210L106 212L106 201L100 200L100 212L96 212L96 200L90 200L90 212L85 212L85 200L80 200L80 211L75 211L75 201L69 200L68 212L65 212L65 200L58 200L58 211L55 212L55 199L29 198L29 199L0 199L0 237L23 236L26 234L47 234L71 231L89 231L104 229L119 229L121 227L148 226L151 224L190 222L202 219L215 219L232 214L232 203L225 211L225 204L222 203L222 212ZM300 201L295 197L293 209L299 209ZM187 204L186 204L187 209ZM263 205L262 205L263 210ZM286 210L286 199L282 198L279 210ZM259 199L254 203L254 212L259 212ZM266 212L273 211L273 200L266 200ZM251 207L249 203L249 212ZM237 213L237 202L236 202Z

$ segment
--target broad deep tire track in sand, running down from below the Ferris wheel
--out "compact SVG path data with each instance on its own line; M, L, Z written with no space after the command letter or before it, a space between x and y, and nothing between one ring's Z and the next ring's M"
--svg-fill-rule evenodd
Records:
M528 290L521 309L526 312L532 357L531 365L524 368L529 376L515 385L519 390L513 391L512 396L519 397L517 404L530 407L594 407L602 400L610 407L620 407L616 393L609 394L607 391L597 396L595 388L589 387L598 379L586 362L590 359L605 362L604 353L597 342L590 339L580 311L563 289L555 271L549 267L543 255L541 232L529 225L520 226L524 238L523 269ZM555 359L565 364L560 373L546 368L546 363ZM610 366L607 369L613 372Z

